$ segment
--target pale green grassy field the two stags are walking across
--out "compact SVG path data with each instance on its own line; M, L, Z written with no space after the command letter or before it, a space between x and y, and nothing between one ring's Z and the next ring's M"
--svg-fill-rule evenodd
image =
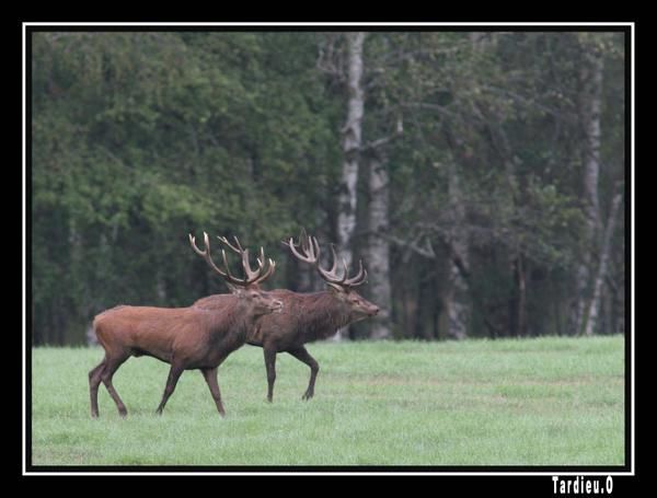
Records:
M120 419L88 371L102 349L32 351L34 465L622 465L622 337L323 343L308 368L279 355L265 401L262 349L219 369L221 419L197 371L154 415L169 366L131 358L114 377Z

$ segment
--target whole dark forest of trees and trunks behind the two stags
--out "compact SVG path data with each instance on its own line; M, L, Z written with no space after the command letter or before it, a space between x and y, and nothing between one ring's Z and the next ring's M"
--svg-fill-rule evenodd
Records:
M34 345L226 292L187 234L383 311L343 339L622 334L622 32L32 32ZM324 260L324 264L330 264Z

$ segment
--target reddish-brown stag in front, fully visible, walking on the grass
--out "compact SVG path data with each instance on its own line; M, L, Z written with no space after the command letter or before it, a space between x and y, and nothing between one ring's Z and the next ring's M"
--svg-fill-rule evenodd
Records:
M234 277L229 269L226 252L221 251L224 269L217 267L210 256L208 235L204 233L205 250L196 246L189 235L192 248L228 283L231 294L224 294L221 305L212 310L192 305L189 308L151 308L119 305L107 310L93 321L99 343L105 349L105 358L89 372L91 416L99 416L99 385L105 384L120 416L127 409L112 385L112 377L130 356L151 356L171 364L166 386L157 414L162 414L178 378L185 370L200 370L217 410L226 414L221 404L217 368L226 357L246 341L257 320L280 311L283 302L268 292L260 290L258 283L274 274L275 263L268 259L264 270L264 251L261 248L257 269L249 263L249 250L241 252L242 267L246 278ZM264 270L264 271L263 271Z

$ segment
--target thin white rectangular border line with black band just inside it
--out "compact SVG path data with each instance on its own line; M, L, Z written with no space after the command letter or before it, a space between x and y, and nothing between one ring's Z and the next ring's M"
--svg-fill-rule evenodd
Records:
M634 313L634 301L633 301L633 289L634 289L634 280L632 275L633 265L625 266L625 277L626 277L626 286L625 286L625 302L630 304L625 310L625 464L624 465L615 465L615 466L607 466L607 465L593 465L593 466L567 466L567 465L558 465L558 466L505 466L505 465L496 465L496 466L181 466L181 465L166 465L166 466L153 466L153 465L90 465L90 466L58 466L58 465L33 465L32 464L32 392L31 392L31 380L32 380L32 355L30 354L33 347L32 334L28 331L32 329L32 260L30 255L32 254L32 234L31 234L31 221L32 221L32 154L31 154L31 143L32 143L32 102L30 99L30 89L32 83L32 74L31 74L31 55L32 55L32 33L35 32L126 32L126 31L139 31L139 32L207 32L207 31L218 31L218 32L286 32L286 31L313 31L313 32L348 32L362 30L368 32L411 32L411 31L505 31L505 32L531 32L531 31L541 31L541 32L622 32L625 35L625 260L626 263L632 262L633 257L633 215L634 215L634 198L633 186L634 186L634 128L635 128L635 108L633 104L633 97L635 93L635 78L636 78L636 68L635 68L635 23L626 22L615 25L600 25L602 22L597 23L598 25L589 25L585 23L573 23L568 25L555 25L555 24L545 24L544 22L538 23L522 23L520 22L509 22L508 24L485 24L482 23L460 23L458 25L417 25L417 24L391 24L391 25L368 25L364 23L341 23L343 25L325 25L321 22L312 23L313 25L299 25L296 23L281 21L285 25L262 25L254 24L255 22L244 22L244 23L232 23L232 24L222 24L222 25L198 25L198 24L187 24L187 25L145 25L140 22L127 23L125 25L90 25L85 23L65 23L65 22L53 22L45 23L44 25L34 25L30 24L32 21L22 21L19 23L19 32L21 37L23 36L23 32L25 34L24 38L24 49L25 55L21 54L21 63L25 65L25 79L21 78L22 81L22 100L24 99L25 105L25 127L22 128L22 132L25 137L25 148L21 144L21 157L24 158L25 161L25 184L23 185L23 192L25 196L25 205L24 216L25 216L25 232L24 232L24 243L25 246L23 248L25 255L25 275L24 282L25 287L23 288L24 302L25 302L25 325L26 328L23 329L25 348L22 351L22 361L25 366L25 386L22 391L21 399L22 406L25 409L25 435L22 437L22 443L24 444L24 452L22 453L21 465L22 465L22 475L43 475L44 473L60 473L60 474L79 474L79 475L102 475L105 474L116 474L116 475L125 475L125 474L135 474L135 475L143 475L148 473L151 475L152 473L157 475L180 475L176 473L211 473L211 474L239 474L239 475L261 475L263 473L266 474L295 474L295 473L312 473L312 474L338 474L338 475L360 475L360 474L374 474L374 475L385 475L390 473L403 473L404 475L415 475L415 476L424 476L427 473L431 475L442 475L450 477L470 477L475 476L476 478L481 478L485 476L486 478L498 477L498 476L544 476L550 480L549 488L552 489L551 477L552 475L560 476L568 476L565 478L575 478L575 476L579 475L588 475L591 478L600 478L602 479L607 475L613 475L615 478L624 479L625 476L635 476L636 475L636 441L635 438L632 438L633 433L636 430L636 378L633 375L635 372L635 357L633 357L632 351L634 346L634 350L636 350L636 338L634 337L633 326L633 313ZM35 21L36 22L36 21ZM119 21L107 21L110 22L119 22ZM269 23L270 21L263 21ZM393 23L396 23L394 21ZM558 21L554 21L557 22ZM158 23L160 23L158 21ZM162 21L161 23L165 23ZM187 21L184 21L187 23ZM193 23L193 21L189 21ZM518 23L518 24L515 24ZM239 24L239 25L238 25ZM22 38L23 39L23 38ZM21 44L23 47L23 44ZM634 73L633 73L634 69ZM23 86L24 85L24 86ZM24 95L23 95L24 90ZM21 114L22 114L21 108ZM627 204L627 200L630 202ZM629 283L629 285L627 285ZM634 345L632 341L634 340ZM634 402L634 403L633 403ZM633 417L634 416L634 417ZM447 474L447 475L446 475ZM456 474L456 475L454 475ZM474 474L474 475L473 475ZM486 479L488 480L488 479ZM614 482L615 485L615 482ZM614 490L615 493L615 490Z

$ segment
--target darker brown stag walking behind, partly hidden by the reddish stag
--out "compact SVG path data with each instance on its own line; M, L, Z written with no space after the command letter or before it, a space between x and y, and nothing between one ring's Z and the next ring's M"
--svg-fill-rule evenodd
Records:
M241 251L239 241L235 240L237 246L233 246L226 239L220 240L231 250L238 253ZM320 366L303 345L325 339L334 335L338 328L373 316L379 312L376 304L354 290L355 287L365 283L367 279L367 270L362 268L362 262L359 263L358 274L353 278L347 278L348 270L344 260L344 274L337 275L337 257L333 245L331 245L333 267L326 270L319 264L320 245L315 238L308 236L306 232L302 232L299 244L295 244L292 239L284 243L289 246L298 259L315 267L326 281L328 290L311 293L292 292L286 289L269 291L269 294L283 301L283 311L275 315L263 316L256 323L255 332L250 334L246 340L247 344L261 346L264 349L268 402L272 402L274 397L276 354L289 352L310 367L310 382L302 396L303 399L310 399L314 395L314 384ZM221 306L222 299L221 296L209 296L196 301L194 305L212 309Z

